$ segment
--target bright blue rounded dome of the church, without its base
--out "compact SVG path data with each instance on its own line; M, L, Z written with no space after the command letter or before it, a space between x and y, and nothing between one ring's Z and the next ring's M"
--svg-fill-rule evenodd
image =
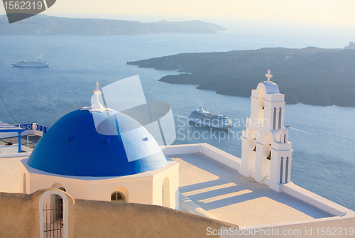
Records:
M106 109L78 109L60 118L35 146L28 165L74 176L123 176L162 168L167 161L138 121ZM94 117L93 117L94 116Z

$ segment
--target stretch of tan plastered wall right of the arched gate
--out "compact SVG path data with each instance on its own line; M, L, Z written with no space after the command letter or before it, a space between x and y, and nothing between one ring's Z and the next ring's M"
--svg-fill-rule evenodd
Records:
M221 226L236 227L157 205L75 200L74 237L204 237Z

